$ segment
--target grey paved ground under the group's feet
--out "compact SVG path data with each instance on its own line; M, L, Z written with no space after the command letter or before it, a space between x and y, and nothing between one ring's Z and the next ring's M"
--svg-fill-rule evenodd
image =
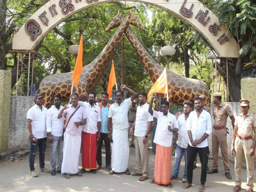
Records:
M46 167L50 169L49 153L46 153ZM150 184L149 181L153 178L154 174L154 162L155 156L152 151L150 151L149 159L149 180L140 182L138 177L125 174L109 175L108 171L103 168L97 171L97 174L92 174L91 172L86 172L82 177L71 176L68 180L64 178L63 175L57 174L56 176L51 176L50 174L45 174L38 172L39 164L38 158L35 160L35 167L38 172L38 177L31 177L28 175L28 156L23 157L23 160L17 162L0 162L0 190L4 192L19 192L19 191L29 191L29 192L75 192L75 191L99 191L99 192L149 192L149 191L173 191L173 192L196 192L200 184L200 164L197 164L198 168L194 170L193 176L193 186L187 190L182 189L183 183L182 174L184 169L184 161L181 163L180 176L177 180L172 181L174 185L173 188L167 188L164 186L159 186L156 184ZM199 162L199 160L198 160ZM105 163L105 156L103 155L103 163ZM211 165L212 160L209 160L209 165ZM174 157L172 157L171 162L171 173L174 167ZM81 163L80 163L81 165ZM228 192L233 191L234 187L234 164L230 164L231 175L233 180L228 180L225 177L225 172L223 169L223 162L219 163L219 173L208 175L206 182L207 192ZM103 167L105 164L103 164ZM210 167L210 166L209 166ZM81 168L81 167L80 167ZM130 148L129 156L129 169L131 172L136 171L135 165L135 149ZM256 175L256 174L255 174ZM242 188L245 189L246 181L246 170L242 170ZM254 184L256 186L256 183ZM242 189L241 192L245 190Z

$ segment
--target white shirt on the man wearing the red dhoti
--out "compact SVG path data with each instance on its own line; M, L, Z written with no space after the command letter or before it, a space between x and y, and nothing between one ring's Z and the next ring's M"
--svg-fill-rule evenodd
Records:
M86 133L95 134L98 131L97 123L101 121L100 107L95 105L91 107L88 102L79 101L78 105L83 106L87 115L86 124L83 126L82 131Z

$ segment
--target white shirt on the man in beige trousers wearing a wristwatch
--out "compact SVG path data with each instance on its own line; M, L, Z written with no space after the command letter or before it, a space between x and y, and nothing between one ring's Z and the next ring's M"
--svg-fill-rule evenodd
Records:
M148 129L148 122L153 121L153 116L148 112L148 103L137 107L134 135L144 137Z

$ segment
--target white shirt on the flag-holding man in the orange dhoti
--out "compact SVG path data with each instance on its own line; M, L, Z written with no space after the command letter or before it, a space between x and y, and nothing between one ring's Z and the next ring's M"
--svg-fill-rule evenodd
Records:
M171 126L171 129L178 129L176 117L171 113L165 116L160 111L153 111L153 117L158 119L154 143L165 147L171 146L173 133L168 130L168 126Z

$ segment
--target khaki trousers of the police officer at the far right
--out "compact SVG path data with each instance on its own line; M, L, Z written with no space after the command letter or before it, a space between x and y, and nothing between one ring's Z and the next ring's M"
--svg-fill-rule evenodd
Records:
M253 189L254 185L254 156L250 156L253 140L235 139L235 184L241 186L241 167L243 157L245 156L247 170L247 188Z

